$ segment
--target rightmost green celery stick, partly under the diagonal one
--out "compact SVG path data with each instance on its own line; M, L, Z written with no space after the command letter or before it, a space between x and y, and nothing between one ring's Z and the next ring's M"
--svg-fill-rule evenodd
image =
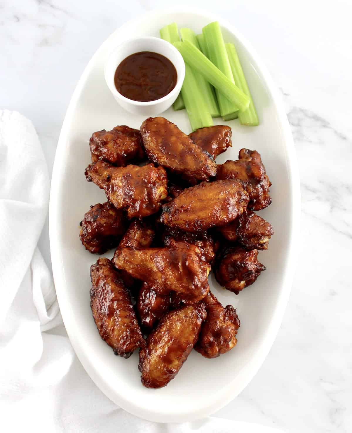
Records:
M243 113L238 113L238 118L241 125L257 126L259 125L257 110L254 107L252 95L248 88L248 84L244 76L236 48L233 44L225 44L225 46L228 54L228 60L230 61L232 73L235 78L235 82L237 83L238 87L249 97L250 100L248 109Z

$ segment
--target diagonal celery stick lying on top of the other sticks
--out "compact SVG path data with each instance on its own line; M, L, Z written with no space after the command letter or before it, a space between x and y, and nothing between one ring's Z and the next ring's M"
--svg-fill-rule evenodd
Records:
M184 61L199 71L217 90L219 90L241 111L247 110L249 98L229 78L226 77L206 56L188 41L174 42ZM182 94L183 95L183 94ZM231 110L232 113L235 110Z

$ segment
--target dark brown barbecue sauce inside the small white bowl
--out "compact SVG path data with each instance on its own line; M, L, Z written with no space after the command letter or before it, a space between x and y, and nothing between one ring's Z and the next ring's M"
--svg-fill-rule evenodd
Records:
M171 92L177 82L177 72L165 56L141 51L126 57L117 66L114 83L117 91L128 99L155 101Z

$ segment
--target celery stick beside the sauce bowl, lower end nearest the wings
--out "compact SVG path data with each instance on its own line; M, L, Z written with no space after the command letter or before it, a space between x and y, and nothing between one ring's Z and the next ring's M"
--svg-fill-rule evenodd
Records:
M181 88L181 94L184 99L190 126L192 131L205 126L212 126L212 116L208 112L206 103L203 100L200 87L198 87L197 78L193 73L192 68L185 63L186 74Z

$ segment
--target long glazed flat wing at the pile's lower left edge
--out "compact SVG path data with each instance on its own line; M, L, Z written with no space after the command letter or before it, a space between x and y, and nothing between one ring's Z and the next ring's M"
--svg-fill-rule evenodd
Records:
M145 341L127 289L109 259L98 259L90 275L90 304L99 334L115 355L129 358Z

